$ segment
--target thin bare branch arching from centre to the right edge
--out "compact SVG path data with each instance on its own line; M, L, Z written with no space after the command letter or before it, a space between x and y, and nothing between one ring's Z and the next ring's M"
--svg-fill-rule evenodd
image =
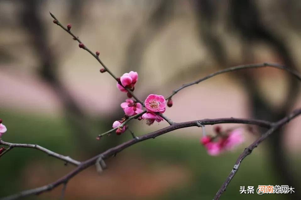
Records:
M238 66L235 66L235 67L230 67L230 68L226 68L226 69L223 69L223 70L220 70L220 71L217 71L215 73L211 73L209 74L208 76L205 76L204 78L201 78L199 80L196 80L194 82L191 82L191 83L188 83L188 84L184 84L182 85L181 87L179 87L178 89L175 89L172 91L172 93L170 95L168 95L165 100L168 100L169 98L171 98L173 95L177 94L178 91L186 88L186 87L189 87L191 85L194 85L194 84L198 84L202 81L205 81L207 80L208 78L211 78L213 76L216 76L216 75L219 75L219 74L222 74L222 73L227 73L227 72L233 72L233 71L238 71L238 70L242 70L242 69L248 69L248 68L263 68L263 67L272 67L272 68L278 68L278 69L282 69L282 70L285 70L287 71L288 73L292 74L293 76L295 76L299 81L301 81L301 75L297 72L297 71L294 71L292 69L289 69L283 65L279 65L279 64L273 64L273 63L259 63L259 64L248 64L248 65L238 65Z

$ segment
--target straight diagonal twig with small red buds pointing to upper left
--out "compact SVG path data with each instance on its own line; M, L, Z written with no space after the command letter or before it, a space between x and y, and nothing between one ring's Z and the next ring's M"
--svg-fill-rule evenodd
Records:
M70 35L72 35L72 37L73 37L73 39L74 40L76 40L76 41L78 41L79 43L82 43L82 44L84 44L80 39L79 39L79 37L77 37L77 36L75 36L72 32L71 32L71 30L68 30L66 27L64 27L63 26L63 24L61 24L59 21L58 21L58 19L51 13L51 12L49 12L50 13L50 15L51 15L51 17L53 18L53 19L55 19L56 20L56 24L58 25L58 26L60 26L63 30L65 30L67 33L69 33ZM84 45L84 48L83 49L85 49L86 51L88 51L100 64L101 64L101 66L103 67L103 68L105 68L106 69L106 71L116 80L116 81L118 81L118 79L117 79L117 77L109 70L109 68L107 68L107 66L99 59L99 57L95 54L95 53L93 53L86 45ZM121 86L123 86L123 85L121 85ZM137 100L137 102L139 102L140 104L142 104L142 105L144 105L143 104L143 102L140 100L140 99L138 99L135 95L134 95L134 93L129 89L129 88L126 88L126 87L123 87L124 89L126 89L132 96L133 96L133 98L135 99L135 100Z

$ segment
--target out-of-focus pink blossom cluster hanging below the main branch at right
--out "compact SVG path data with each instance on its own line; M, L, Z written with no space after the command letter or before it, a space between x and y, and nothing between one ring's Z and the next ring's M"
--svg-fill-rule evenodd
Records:
M244 142L243 129L236 128L228 132L222 132L219 126L216 127L216 136L203 136L200 142L204 145L209 155L216 156L224 151L233 150Z

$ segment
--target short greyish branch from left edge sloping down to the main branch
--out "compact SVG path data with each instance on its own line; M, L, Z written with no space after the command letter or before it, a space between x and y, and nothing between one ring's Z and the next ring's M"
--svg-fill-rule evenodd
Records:
M77 161L77 160L74 160L72 158L70 158L69 156L64 156L64 155L61 155L61 154L57 154L53 151L50 151L49 149L46 149L44 147L41 147L40 145L37 145L37 144L16 144L16 143L9 143L9 142L4 142L3 140L0 139L0 144L3 144L5 146L8 146L8 149L13 149L14 147L22 147L22 148L33 148L33 149L38 149L40 151L43 151L45 152L46 154L50 155L50 156L53 156L57 159L61 159L61 160L64 160L66 161L67 163L71 163L73 165L80 165L80 162ZM8 149L6 149L6 151L4 151L0 157L5 154Z

